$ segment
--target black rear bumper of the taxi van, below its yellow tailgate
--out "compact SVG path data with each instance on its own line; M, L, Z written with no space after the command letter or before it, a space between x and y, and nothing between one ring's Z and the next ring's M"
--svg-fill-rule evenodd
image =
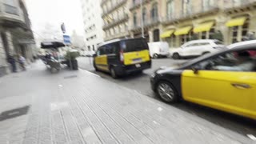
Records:
M130 74L136 71L141 71L141 70L146 70L151 68L151 61L143 62L139 64L140 64L140 67L137 67L135 64L129 65L129 66L125 66L125 65L118 66L116 70L118 75L123 75L123 74Z

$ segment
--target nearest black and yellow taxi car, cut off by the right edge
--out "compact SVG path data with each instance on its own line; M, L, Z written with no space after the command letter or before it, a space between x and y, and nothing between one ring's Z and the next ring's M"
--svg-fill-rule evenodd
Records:
M164 102L183 99L256 119L256 41L160 68L150 81Z

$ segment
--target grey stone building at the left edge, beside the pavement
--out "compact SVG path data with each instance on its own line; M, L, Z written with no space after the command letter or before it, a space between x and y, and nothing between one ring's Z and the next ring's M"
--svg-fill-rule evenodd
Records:
M10 72L9 56L33 62L34 35L24 0L0 0L0 76Z

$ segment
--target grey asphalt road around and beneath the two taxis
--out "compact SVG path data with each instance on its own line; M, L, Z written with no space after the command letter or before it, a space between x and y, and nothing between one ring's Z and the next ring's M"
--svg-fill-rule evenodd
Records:
M141 94L151 98L157 98L150 89L150 75L160 66L174 66L175 64L186 62L187 60L173 60L170 58L154 59L152 68L144 70L142 74L130 74L124 78L113 79L110 74L96 72L92 64L92 58L78 58L78 65L82 70L88 70L94 74L101 76L118 85L125 86L129 89L136 90ZM226 129L233 130L239 134L252 134L256 137L256 122L247 118L241 118L237 115L227 114L219 110L213 110L204 106L198 106L190 102L179 102L170 106L174 106L180 110L184 110L190 114L197 115L206 121L213 122Z

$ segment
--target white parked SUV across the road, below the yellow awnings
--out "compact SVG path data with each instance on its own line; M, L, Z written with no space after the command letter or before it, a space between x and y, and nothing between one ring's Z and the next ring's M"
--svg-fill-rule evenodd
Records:
M180 48L170 50L170 56L174 59L192 58L203 54L213 53L222 48L225 48L225 46L218 40L194 40L186 42Z

